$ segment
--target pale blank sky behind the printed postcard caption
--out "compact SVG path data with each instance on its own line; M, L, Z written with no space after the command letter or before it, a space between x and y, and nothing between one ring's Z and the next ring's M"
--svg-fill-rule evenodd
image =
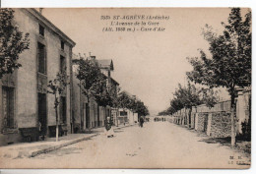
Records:
M76 42L75 54L92 52L96 59L112 59L111 75L121 89L137 95L150 111L161 111L169 106L178 83L186 84L185 73L192 70L186 57L199 56L199 48L209 47L202 29L208 24L222 32L221 22L226 23L229 12L227 8L79 8L43 9L42 15ZM165 28L161 32L103 32L110 27L110 21L100 20L106 15L164 15L169 20L160 21Z

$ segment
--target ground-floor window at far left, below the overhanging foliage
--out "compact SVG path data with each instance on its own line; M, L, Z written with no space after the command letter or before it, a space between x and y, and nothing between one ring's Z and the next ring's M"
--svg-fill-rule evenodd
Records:
M2 87L5 128L14 128L14 87Z

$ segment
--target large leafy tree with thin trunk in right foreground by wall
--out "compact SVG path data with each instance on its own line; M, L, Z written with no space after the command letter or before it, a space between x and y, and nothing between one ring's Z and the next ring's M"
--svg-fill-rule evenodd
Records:
M240 9L232 8L228 24L218 35L206 25L203 31L211 57L200 50L201 57L188 58L193 71L187 77L209 87L226 87L231 99L231 145L235 145L235 87L251 85L251 12L242 20Z

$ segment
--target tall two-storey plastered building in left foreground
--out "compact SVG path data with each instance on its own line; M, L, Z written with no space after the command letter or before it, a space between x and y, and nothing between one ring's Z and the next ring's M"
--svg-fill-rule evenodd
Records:
M35 9L15 9L14 25L30 33L30 49L20 55L22 67L0 81L0 143L12 144L25 139L50 136L56 125L54 96L47 83L58 72L71 72L75 42ZM71 87L60 98L62 130L71 132Z

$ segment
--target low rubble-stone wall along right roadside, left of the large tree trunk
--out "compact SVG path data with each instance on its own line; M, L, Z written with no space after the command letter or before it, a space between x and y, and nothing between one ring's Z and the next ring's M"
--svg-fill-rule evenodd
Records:
M186 125L196 131L205 132L214 138L230 137L230 101L217 103L212 108L205 104L192 107L191 116L189 109L181 109L174 116L174 123L176 124Z

